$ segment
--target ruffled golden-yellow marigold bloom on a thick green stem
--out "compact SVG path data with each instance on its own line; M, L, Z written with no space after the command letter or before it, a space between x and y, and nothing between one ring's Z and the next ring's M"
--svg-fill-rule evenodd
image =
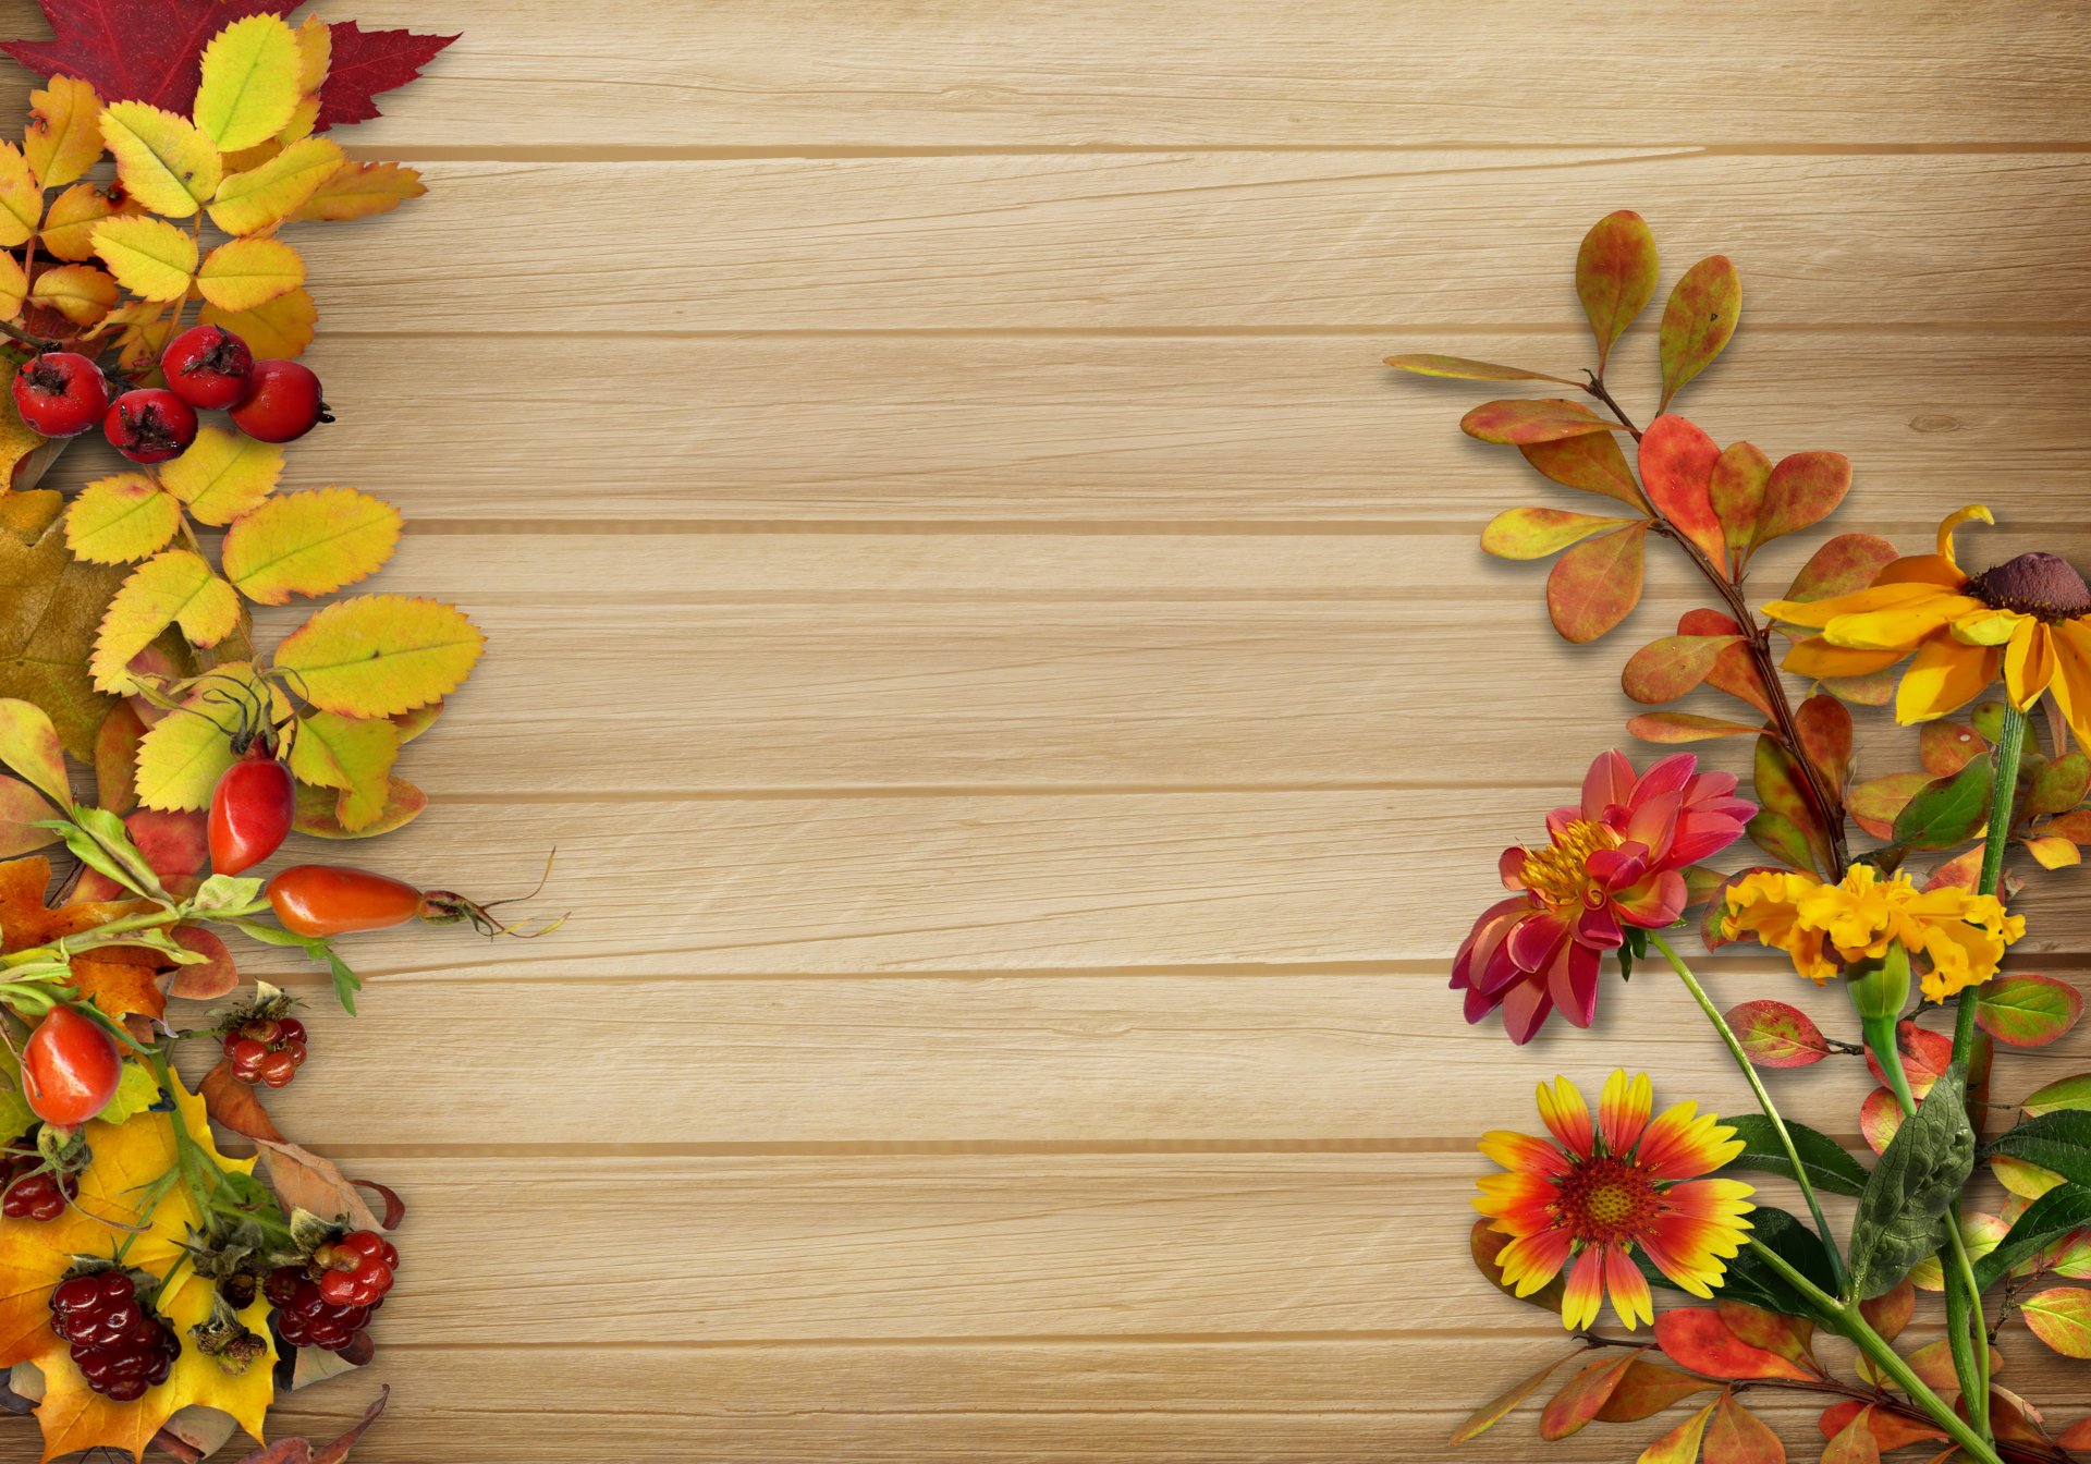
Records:
M2026 920L2005 914L1995 895L1917 889L1907 874L1882 878L1871 864L1853 864L1836 885L1786 870L1746 874L1727 891L1721 933L1784 950L1817 985L1901 943L1930 964L1924 996L1945 1002L1995 977Z

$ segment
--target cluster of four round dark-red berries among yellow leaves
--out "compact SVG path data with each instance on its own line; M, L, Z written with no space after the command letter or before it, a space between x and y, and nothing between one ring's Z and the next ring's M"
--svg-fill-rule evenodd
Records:
M165 387L132 387L109 399L102 368L79 351L42 351L15 372L15 410L42 437L77 437L96 422L132 462L165 462L197 441L197 408L224 410L261 441L293 441L335 420L320 379L284 360L255 360L224 326L194 326L159 358Z

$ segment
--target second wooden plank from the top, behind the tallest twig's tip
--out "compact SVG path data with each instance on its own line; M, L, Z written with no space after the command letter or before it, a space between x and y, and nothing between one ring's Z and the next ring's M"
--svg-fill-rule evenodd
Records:
M2072 153L1447 148L427 174L431 199L414 209L303 236L326 328L397 330L401 310L422 328L592 335L1554 322L1575 318L1577 241L1623 203L1648 209L1677 264L1733 255L1759 326L2091 316L2091 264L2074 249L2091 224L2091 157Z

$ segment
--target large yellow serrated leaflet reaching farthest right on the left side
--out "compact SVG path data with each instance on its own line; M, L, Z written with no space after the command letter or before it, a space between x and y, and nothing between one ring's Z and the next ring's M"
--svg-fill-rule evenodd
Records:
M360 594L318 611L276 646L314 707L345 717L391 717L454 692L487 638L437 600Z

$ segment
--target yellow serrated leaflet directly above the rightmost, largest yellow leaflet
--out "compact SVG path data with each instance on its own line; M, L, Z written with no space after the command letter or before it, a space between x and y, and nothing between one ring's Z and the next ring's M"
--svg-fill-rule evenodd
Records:
M282 494L226 529L226 577L249 600L332 594L391 558L399 510L353 487Z

